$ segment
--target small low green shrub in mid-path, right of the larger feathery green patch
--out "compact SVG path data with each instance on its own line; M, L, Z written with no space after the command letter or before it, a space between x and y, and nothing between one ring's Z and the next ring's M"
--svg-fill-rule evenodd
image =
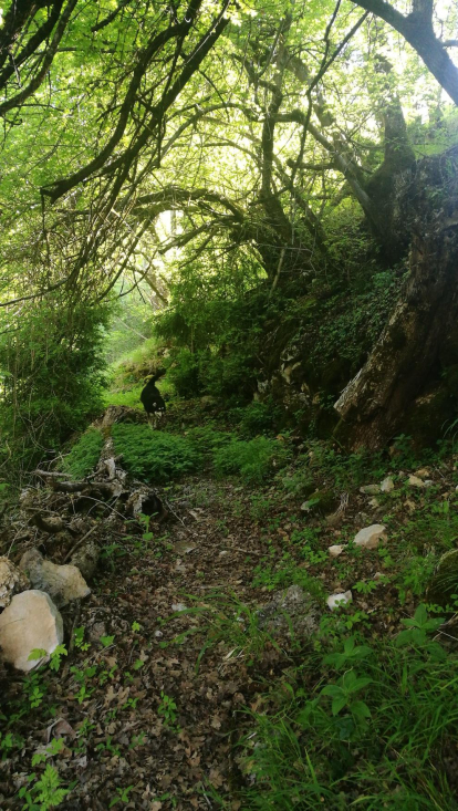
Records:
M290 458L291 449L284 440L261 436L249 443L231 439L216 450L214 465L220 477L239 474L247 482L261 484Z

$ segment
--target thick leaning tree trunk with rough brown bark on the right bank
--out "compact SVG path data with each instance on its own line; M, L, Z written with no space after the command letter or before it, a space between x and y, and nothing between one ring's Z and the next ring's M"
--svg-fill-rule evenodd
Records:
M335 408L350 445L382 447L428 382L458 315L458 148L398 178L396 222L412 233L409 275L365 366Z

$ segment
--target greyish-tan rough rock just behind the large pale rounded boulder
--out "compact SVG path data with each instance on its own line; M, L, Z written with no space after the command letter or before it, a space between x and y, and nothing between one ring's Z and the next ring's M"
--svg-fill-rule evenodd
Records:
M43 559L38 549L24 552L19 568L28 573L33 588L46 592L59 609L72 600L91 594L91 589L76 566L51 563Z

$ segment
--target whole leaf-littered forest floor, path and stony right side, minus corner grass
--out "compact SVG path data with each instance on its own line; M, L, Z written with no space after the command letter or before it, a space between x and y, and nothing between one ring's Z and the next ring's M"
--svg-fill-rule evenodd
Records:
M313 468L313 454L309 464ZM304 507L300 486L285 486L300 480L293 461L263 487L201 474L157 488L168 516L147 528L126 523L114 534L101 522L103 562L92 594L63 610L69 656L56 673L41 669L24 680L9 672L2 809L51 808L33 804L45 762L70 788L60 805L69 811L251 808L239 789L256 780L239 745L244 740L249 751L259 717L275 717L290 690L299 696L315 688L315 661L326 638L342 631L372 643L394 637L421 602L435 547L454 548L458 537L454 456L429 457L428 469L419 470L417 459L402 470L398 459L387 460L379 479L391 474L394 489L375 501L361 492L361 485L374 484L364 470L342 500L342 464L331 456L314 468L320 491L333 491L344 505L331 521L320 503ZM413 474L420 485L409 482ZM350 543L330 558L329 547L378 522L387 540L377 549ZM312 642L296 638L288 625L271 634L258 621L257 610L291 585L310 591L320 605L320 634ZM331 612L325 599L346 590L352 603ZM298 682L306 656L312 666ZM37 753L43 762L32 762ZM445 773L452 782L450 768ZM30 800L19 799L25 787ZM319 792L298 808L347 808L358 797L352 787L323 805L326 797ZM454 808L434 800L376 802L361 808ZM259 804L275 807L290 808Z

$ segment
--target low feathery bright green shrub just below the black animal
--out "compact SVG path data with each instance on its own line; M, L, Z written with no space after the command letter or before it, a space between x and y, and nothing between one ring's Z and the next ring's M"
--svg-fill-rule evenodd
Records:
M201 455L185 437L152 432L147 425L114 425L116 454L133 476L143 481L164 484L197 470Z

